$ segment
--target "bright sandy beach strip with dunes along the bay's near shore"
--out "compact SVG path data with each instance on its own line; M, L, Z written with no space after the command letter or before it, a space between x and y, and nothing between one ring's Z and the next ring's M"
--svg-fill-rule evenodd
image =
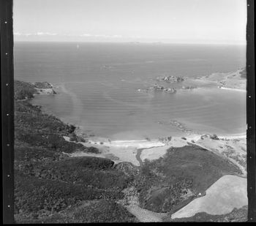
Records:
M64 137L69 141L68 137ZM71 157L101 157L113 160L113 162L131 162L140 166L145 159L154 160L163 157L170 147L183 147L189 143L206 148L221 157L227 158L237 165L243 175L246 176L246 135L227 135L219 137L219 140L205 135L187 135L184 138L172 137L171 140L113 140L106 138L91 138L89 142L80 142L83 146L98 148L100 154L75 152Z

